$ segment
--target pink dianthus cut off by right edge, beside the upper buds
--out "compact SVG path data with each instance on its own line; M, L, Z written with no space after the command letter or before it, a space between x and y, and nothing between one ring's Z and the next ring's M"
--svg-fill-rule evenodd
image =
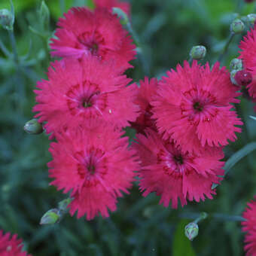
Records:
M250 72L252 75L252 81L248 84L248 92L251 97L256 99L256 31L251 29L247 32L240 42L239 48L241 49L239 59L242 59L243 68Z

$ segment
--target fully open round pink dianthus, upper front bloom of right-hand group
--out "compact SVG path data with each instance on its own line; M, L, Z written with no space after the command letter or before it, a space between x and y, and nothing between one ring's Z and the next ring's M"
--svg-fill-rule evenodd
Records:
M207 63L200 66L194 61L190 67L177 66L159 81L157 97L151 102L157 129L163 139L174 141L182 151L200 151L205 146L227 145L234 141L242 125L230 102L235 99L238 87L230 82L225 68L215 63L212 70Z

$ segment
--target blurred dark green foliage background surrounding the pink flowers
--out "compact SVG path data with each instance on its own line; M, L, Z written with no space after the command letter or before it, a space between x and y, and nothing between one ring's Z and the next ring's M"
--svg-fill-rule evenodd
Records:
M59 224L39 225L44 212L66 197L48 185L47 136L28 135L23 126L33 117L36 81L46 78L51 61L48 40L57 19L72 6L91 6L92 2L46 0L50 26L40 22L40 0L13 2L16 50L8 31L0 28L1 46L7 48L6 52L0 50L0 229L18 233L26 250L37 256L243 255L241 225L233 216L241 215L256 194L253 153L231 169L214 200L166 209L158 205L159 197L154 194L142 197L135 184L129 196L120 198L110 218L85 221L66 215ZM203 63L214 63L230 35L231 21L255 11L254 3L242 0L131 0L130 5L133 29L148 63L148 74L138 60L133 61L135 68L126 72L136 82L145 75L161 78L167 69L188 59L190 48L197 44L207 47ZM1 0L2 8L11 8L8 0ZM222 66L229 66L230 59L238 55L243 35L235 36ZM225 148L226 159L256 139L256 121L248 117L256 115L253 106L242 99L237 110L245 122L243 133ZM184 226L200 212L209 217L200 222L200 233L190 242L184 236Z

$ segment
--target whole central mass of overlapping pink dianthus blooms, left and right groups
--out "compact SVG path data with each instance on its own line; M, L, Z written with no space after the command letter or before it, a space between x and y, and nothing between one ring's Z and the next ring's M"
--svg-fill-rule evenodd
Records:
M136 47L111 13L119 7L130 14L130 5L95 4L94 11L72 8L59 19L50 47L62 59L51 63L35 90L35 117L56 139L50 184L70 192L70 213L88 220L117 208L135 171L143 196L156 192L163 206L212 199L212 184L224 175L223 147L241 132L233 109L238 87L218 62L210 69L196 60L160 81L130 84L123 72L132 67ZM125 126L138 133L130 148Z

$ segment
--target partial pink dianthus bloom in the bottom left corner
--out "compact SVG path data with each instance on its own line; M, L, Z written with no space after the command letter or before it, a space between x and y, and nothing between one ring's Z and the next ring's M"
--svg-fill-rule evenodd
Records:
M17 239L17 234L3 233L0 230L0 255L1 256L32 256L23 251L22 239Z

